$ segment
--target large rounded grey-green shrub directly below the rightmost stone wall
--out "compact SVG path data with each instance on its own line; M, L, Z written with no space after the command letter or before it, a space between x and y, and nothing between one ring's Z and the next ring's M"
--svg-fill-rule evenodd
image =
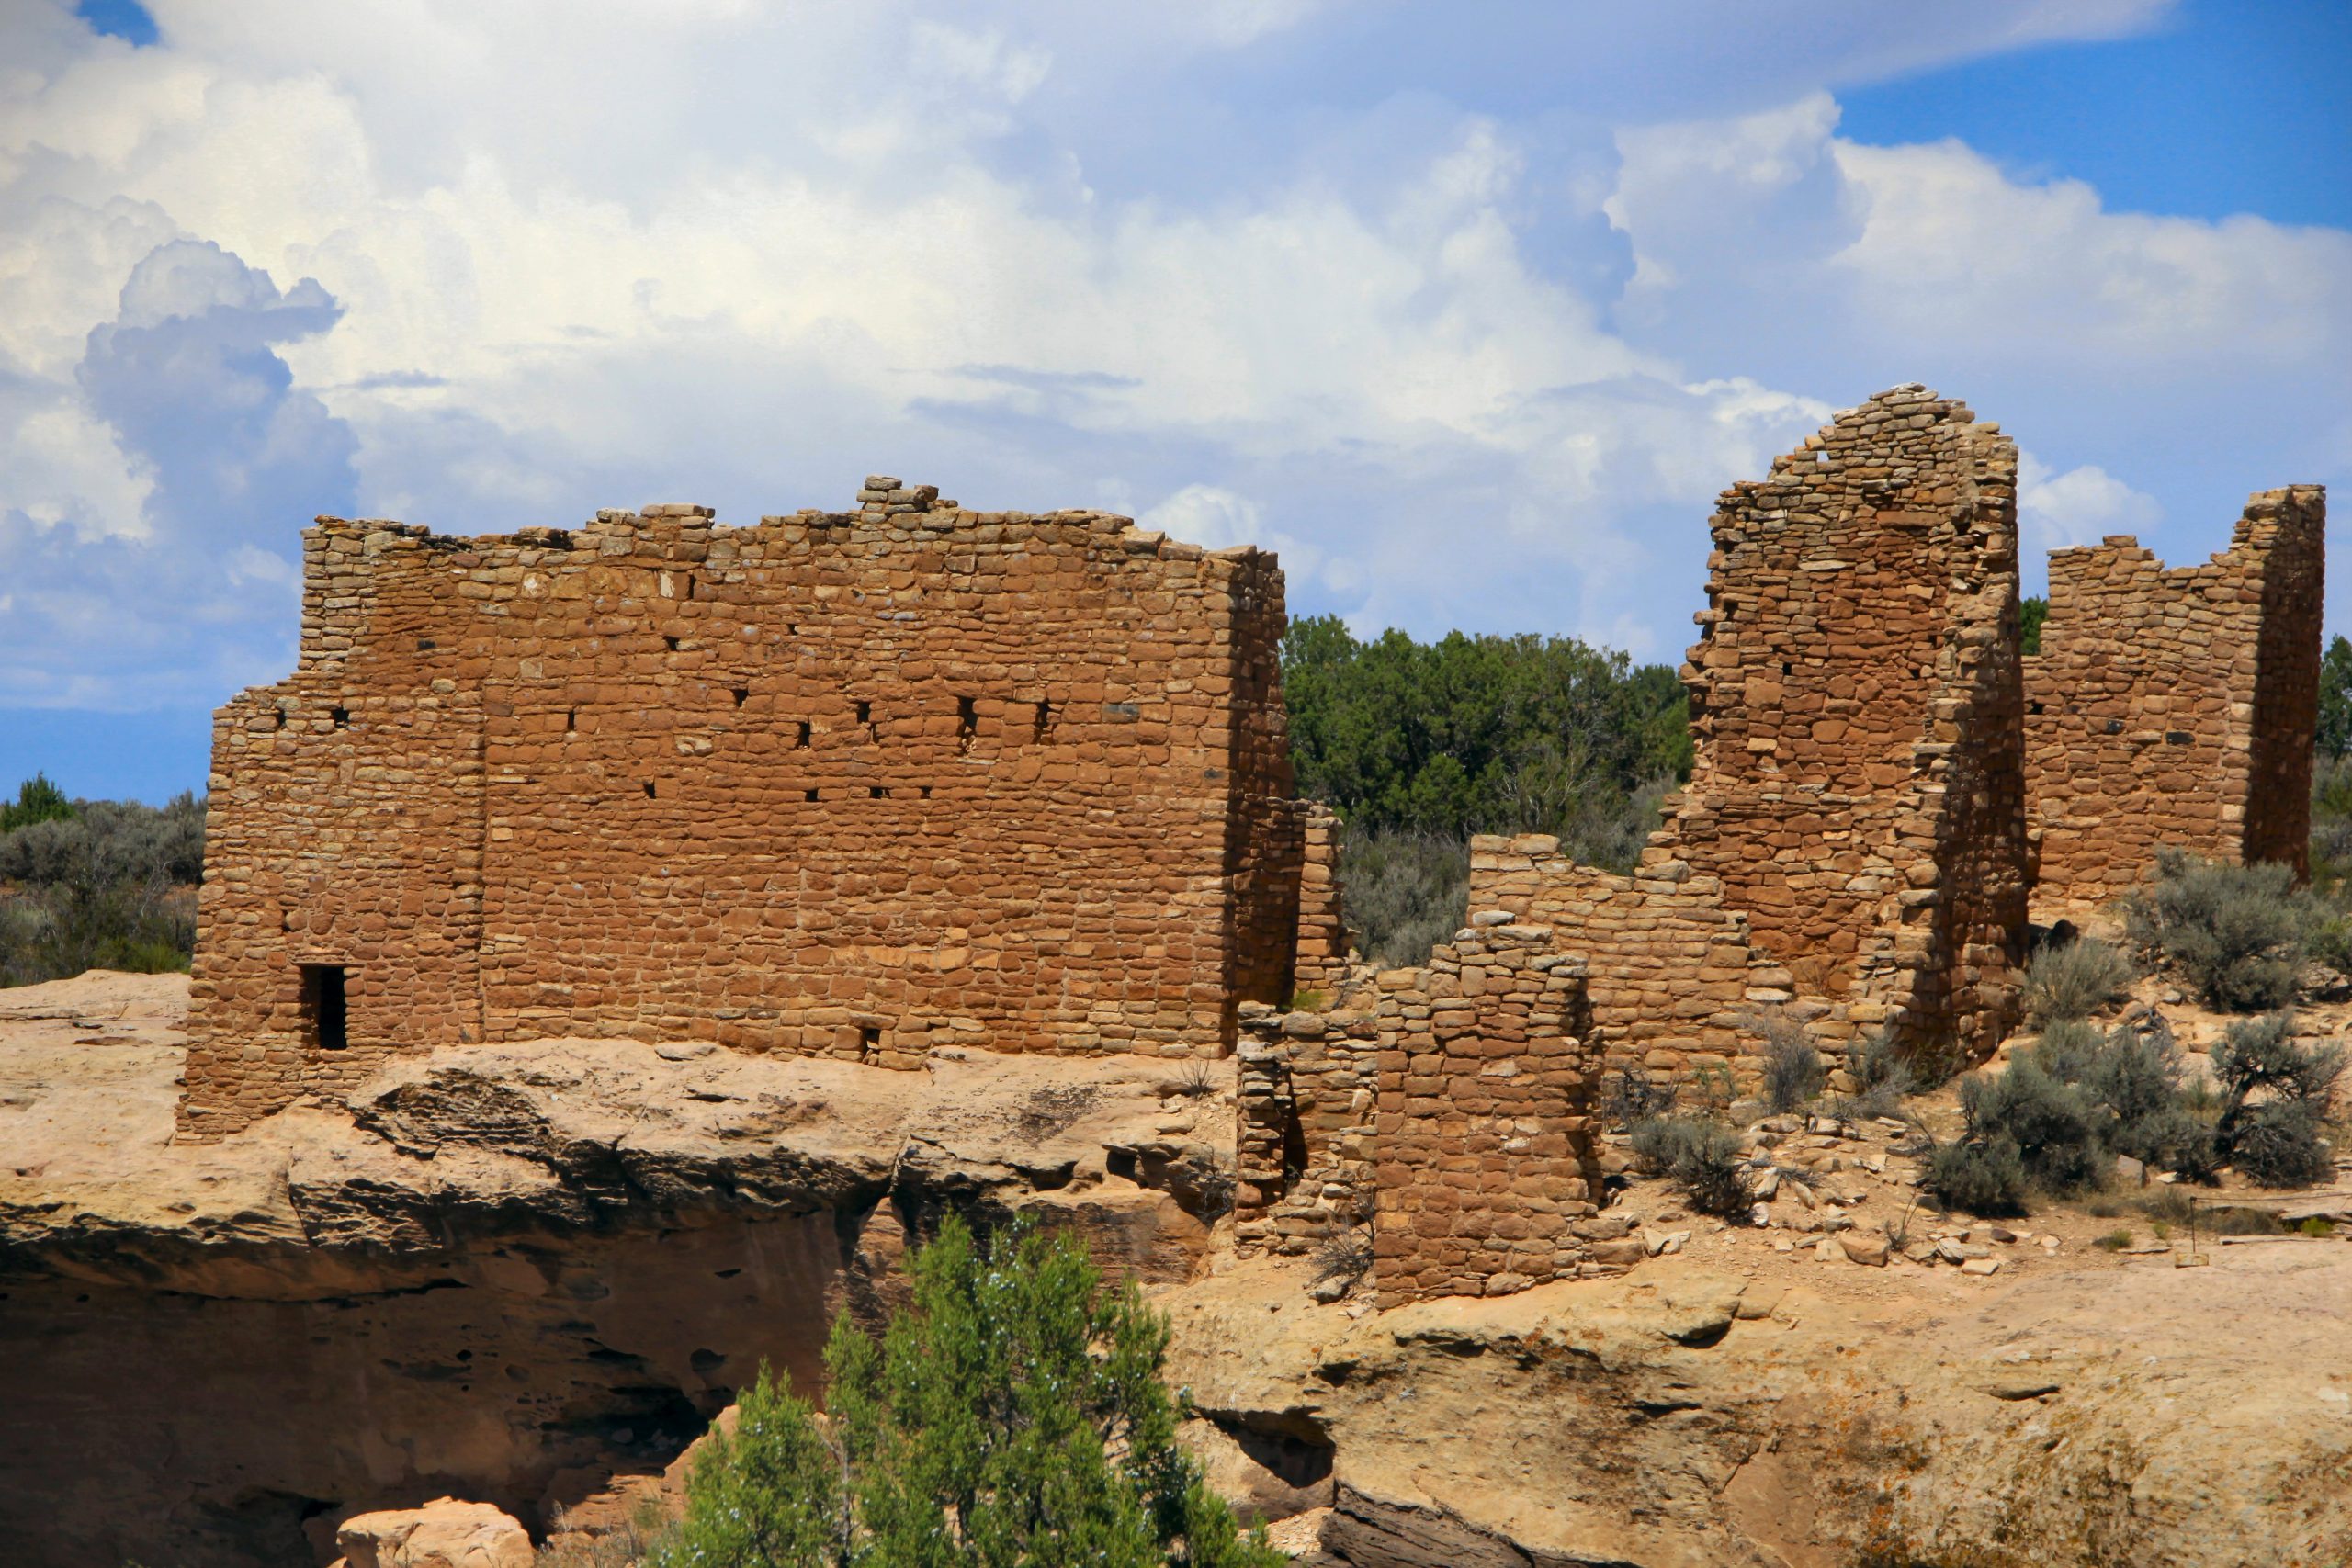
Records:
M2157 851L2152 882L2124 903L2131 940L2209 1006L2256 1013L2293 1001L2319 903L2286 865L2220 865Z

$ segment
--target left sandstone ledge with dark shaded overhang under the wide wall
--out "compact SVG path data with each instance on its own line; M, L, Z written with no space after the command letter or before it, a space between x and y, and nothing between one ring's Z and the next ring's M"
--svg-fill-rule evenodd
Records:
M310 1563L336 1519L442 1493L539 1526L659 1472L760 1361L811 1380L946 1204L1188 1276L1230 1147L1230 1103L1134 1058L633 1041L440 1051L172 1147L183 987L0 1016L12 1561Z

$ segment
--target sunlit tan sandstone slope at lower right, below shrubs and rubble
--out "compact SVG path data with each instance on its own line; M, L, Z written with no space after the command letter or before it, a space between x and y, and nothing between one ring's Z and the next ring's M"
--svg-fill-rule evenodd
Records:
M2037 1272L1658 1258L1392 1312L1298 1265L1167 1293L1169 1375L1315 1446L1350 1568L2352 1561L2352 1248Z

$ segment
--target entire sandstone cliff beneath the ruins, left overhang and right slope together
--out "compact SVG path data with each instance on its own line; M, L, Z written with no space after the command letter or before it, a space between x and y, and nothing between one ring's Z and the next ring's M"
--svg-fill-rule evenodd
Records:
M1331 1505L1312 1561L2352 1561L2343 1241L2176 1269L2084 1222L1983 1279L1689 1222L1623 1279L1378 1312L1211 1251L1232 1105L1181 1067L475 1046L174 1147L181 987L0 997L9 1563L306 1568L440 1495L541 1530L762 1359L807 1380L948 1204L1157 1281L1190 1436L1263 1514Z

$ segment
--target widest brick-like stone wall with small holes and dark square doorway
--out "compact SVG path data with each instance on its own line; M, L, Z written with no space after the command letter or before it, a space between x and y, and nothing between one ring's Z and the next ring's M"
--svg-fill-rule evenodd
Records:
M445 1041L1214 1053L1291 990L1270 555L884 480L303 552L214 726L188 1135Z

